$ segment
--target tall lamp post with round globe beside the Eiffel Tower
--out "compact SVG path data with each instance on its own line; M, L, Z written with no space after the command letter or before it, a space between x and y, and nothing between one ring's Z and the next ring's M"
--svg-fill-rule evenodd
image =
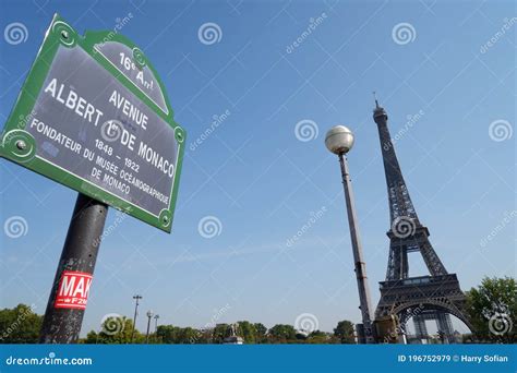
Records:
M352 241L353 262L356 267L356 277L359 290L359 302L362 315L363 336L359 336L359 340L366 344L374 344L374 332L372 325L370 289L366 278L366 266L362 255L362 244L359 238L359 227L357 224L356 204L353 201L352 184L348 171L348 163L346 154L353 146L353 134L345 125L333 127L325 136L325 145L332 153L339 158L341 167L342 186L345 189L345 201L347 204L348 225L350 227L350 238Z

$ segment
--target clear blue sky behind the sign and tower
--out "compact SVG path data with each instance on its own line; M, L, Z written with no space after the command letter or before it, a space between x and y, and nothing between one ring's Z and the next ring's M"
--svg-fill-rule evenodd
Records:
M131 13L121 33L159 72L188 145L227 113L187 148L170 236L131 217L115 222L110 210L107 227L117 227L100 248L83 335L105 314L131 316L134 293L144 297L141 329L149 309L181 326L215 314L273 326L310 313L323 330L359 322L339 168L323 141L339 123L356 134L349 164L376 304L389 215L372 91L398 133L411 197L446 268L465 290L483 276L515 276L512 1L3 0L0 8L1 29L26 28L21 43L0 40L2 122L55 12L81 34L112 29ZM218 41L201 43L205 23L218 25ZM409 39L393 33L401 23L412 27ZM305 141L300 121L317 130ZM0 306L34 303L43 313L76 192L4 159L0 192L2 225L26 221L21 237L1 236ZM288 248L312 214L321 217ZM220 221L213 238L199 231L206 216ZM417 254L410 261L412 275L425 274Z

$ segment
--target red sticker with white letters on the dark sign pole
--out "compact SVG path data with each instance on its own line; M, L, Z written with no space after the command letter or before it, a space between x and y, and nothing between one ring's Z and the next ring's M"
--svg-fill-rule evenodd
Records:
M93 276L84 272L64 270L59 281L56 309L85 310Z

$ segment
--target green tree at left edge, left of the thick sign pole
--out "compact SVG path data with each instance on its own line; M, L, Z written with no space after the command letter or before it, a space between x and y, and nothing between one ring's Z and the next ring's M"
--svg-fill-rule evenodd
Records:
M0 344L37 344L41 323L43 316L25 304L0 310Z

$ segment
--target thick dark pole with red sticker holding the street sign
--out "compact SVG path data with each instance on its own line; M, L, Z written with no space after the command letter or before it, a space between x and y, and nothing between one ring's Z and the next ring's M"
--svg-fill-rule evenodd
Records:
M39 337L40 344L77 341L86 301L84 298L75 297L77 292L86 297L89 292L91 276L94 273L107 213L108 206L105 203L79 193L48 299ZM74 274L77 277L74 277ZM68 284L64 284L65 278ZM75 293L71 293L70 290L74 286L76 286ZM58 304L57 297L63 294L70 296L69 303Z

